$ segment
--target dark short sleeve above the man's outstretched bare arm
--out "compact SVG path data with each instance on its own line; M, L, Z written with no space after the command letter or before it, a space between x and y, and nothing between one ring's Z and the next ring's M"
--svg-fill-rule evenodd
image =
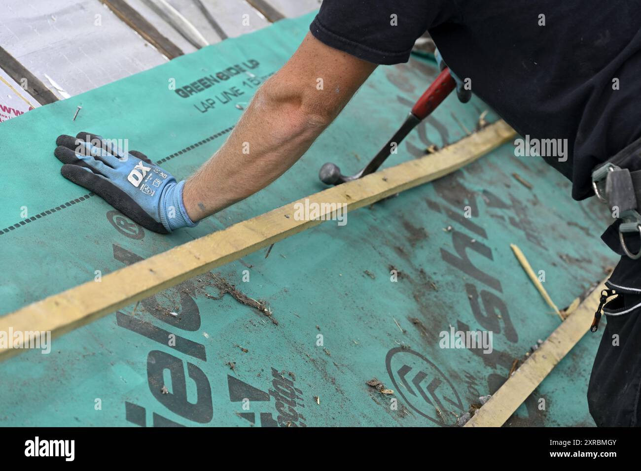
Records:
M453 0L323 0L310 24L330 47L377 64L407 62L417 38L456 17Z

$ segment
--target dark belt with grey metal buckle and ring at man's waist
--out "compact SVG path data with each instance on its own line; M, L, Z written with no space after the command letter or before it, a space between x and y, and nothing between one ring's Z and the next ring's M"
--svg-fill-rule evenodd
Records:
M631 252L625 237L635 235L641 240L641 170L630 171L627 167L638 167L640 160L641 139L638 139L592 171L594 194L621 221L619 242L632 260L641 258L641 250Z

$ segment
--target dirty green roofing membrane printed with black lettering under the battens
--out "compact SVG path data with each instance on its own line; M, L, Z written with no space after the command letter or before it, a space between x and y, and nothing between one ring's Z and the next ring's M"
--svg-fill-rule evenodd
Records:
M4 122L0 314L318 192L326 161L360 170L435 78L434 63L379 67L283 177L171 235L142 229L62 178L53 155L58 135L90 131L128 138L130 149L187 178L224 142L258 83L294 52L312 17ZM228 70L236 66L243 70ZM171 87L212 74L219 83L187 97ZM386 165L460 140L485 110L476 97L449 97ZM486 119L497 116L490 110ZM269 256L256 252L56 338L49 354L0 363L0 424L451 426L560 322L510 244L545 271L560 307L613 264L598 238L604 208L569 194L569 182L544 161L517 158L506 144L349 213L344 226L324 222ZM240 302L243 295L267 302L278 323ZM440 333L451 327L492 331L492 351L441 348ZM585 395L599 337L586 335L507 425L594 425ZM374 378L394 393L367 384Z

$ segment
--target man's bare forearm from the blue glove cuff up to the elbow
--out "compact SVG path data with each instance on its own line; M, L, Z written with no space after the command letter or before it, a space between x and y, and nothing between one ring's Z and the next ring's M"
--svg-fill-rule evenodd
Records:
M265 188L294 165L331 122L301 103L298 95L279 90L282 87L278 78L267 81L221 149L185 183L183 201L192 220Z

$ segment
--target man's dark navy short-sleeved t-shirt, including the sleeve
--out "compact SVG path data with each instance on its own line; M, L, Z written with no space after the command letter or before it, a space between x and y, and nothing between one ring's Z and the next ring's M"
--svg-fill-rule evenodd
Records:
M641 136L639 0L324 0L310 25L324 44L379 64L407 62L426 30L517 132L567 140L565 161L544 158L576 199L593 194L596 165Z

